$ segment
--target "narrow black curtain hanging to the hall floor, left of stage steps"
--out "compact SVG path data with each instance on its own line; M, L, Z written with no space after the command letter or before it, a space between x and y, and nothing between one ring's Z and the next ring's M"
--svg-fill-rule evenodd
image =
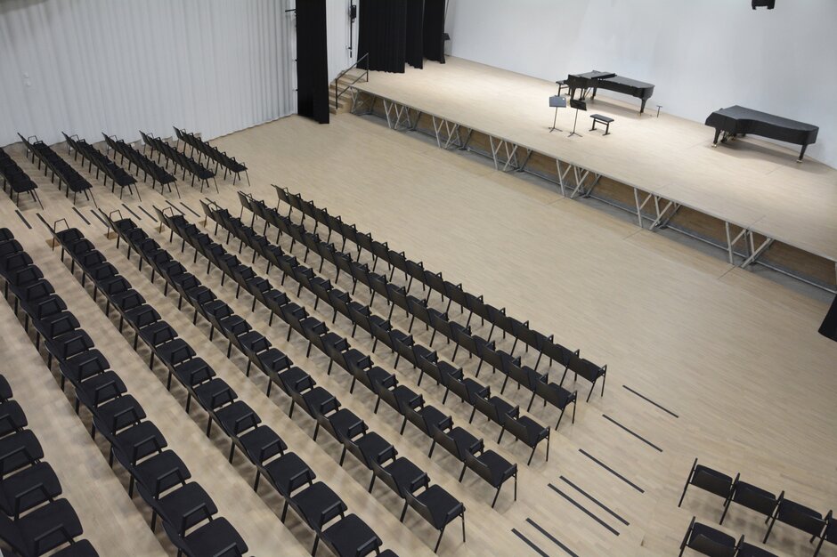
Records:
M329 123L326 0L297 2L297 113Z

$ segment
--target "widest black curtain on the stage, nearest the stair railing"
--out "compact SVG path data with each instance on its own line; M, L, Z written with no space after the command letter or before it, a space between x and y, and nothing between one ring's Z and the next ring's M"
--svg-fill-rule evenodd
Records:
M370 69L404 73L407 0L362 0L360 19L358 60L368 52Z

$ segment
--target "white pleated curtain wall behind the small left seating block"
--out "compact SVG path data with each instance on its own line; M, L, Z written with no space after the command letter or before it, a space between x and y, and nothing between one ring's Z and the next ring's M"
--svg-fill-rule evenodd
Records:
M296 111L287 0L0 0L0 145L16 132L206 138Z

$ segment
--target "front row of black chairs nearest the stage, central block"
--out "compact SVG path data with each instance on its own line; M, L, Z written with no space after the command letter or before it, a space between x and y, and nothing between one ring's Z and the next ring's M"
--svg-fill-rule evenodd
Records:
M579 351L570 351L559 343L555 342L554 335L543 335L539 331L529 327L529 322L522 322L518 319L512 318L506 314L504 308L496 308L489 303L485 303L482 295L473 295L467 292L461 284L454 284L445 280L441 272L433 272L426 270L422 262L412 262L406 257L403 252L396 252L386 244L386 242L379 242L372 239L369 232L360 232L353 224L347 224L339 216L329 214L328 210L321 209L313 204L311 201L305 201L299 194L290 193L287 189L273 186L276 194L279 197L280 204L288 205L288 216L293 209L297 209L302 215L303 220L301 224L305 224L305 217L313 218L316 225L323 224L329 228L330 240L331 232L337 232L343 237L343 246L346 240L352 240L358 248L358 255L362 251L370 254L373 260L372 270L375 270L378 260L386 262L390 269L390 280L394 277L394 271L400 270L404 273L407 279L406 291L410 292L410 286L413 279L418 280L422 288L427 287L427 301L430 301L432 292L437 292L442 296L448 298L448 304L445 312L449 312L451 304L456 302L459 304L462 311L468 310L468 318L466 325L470 324L471 319L476 315L483 321L488 321L491 324L491 330L488 334L488 340L492 340L492 335L495 329L499 329L503 336L508 333L515 340L509 353L514 355L516 345L518 342L523 343L526 351L529 348L534 349L534 356L537 358L534 369L540 365L540 360L543 356L549 358L549 364L557 361L559 364L565 366L570 371L578 376L581 375L593 383L590 388L590 394L599 378L602 379L602 394L605 392L605 375L607 366L597 366L593 362L579 357ZM316 227L314 228L316 232ZM341 247L341 250L343 247ZM574 358L573 358L574 356ZM590 395L588 395L589 400Z

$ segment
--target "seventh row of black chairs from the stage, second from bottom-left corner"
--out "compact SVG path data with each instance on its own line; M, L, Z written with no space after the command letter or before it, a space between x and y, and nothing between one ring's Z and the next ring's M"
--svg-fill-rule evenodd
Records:
M77 232L57 235L66 241L74 237ZM72 248L79 248L79 242L85 241L79 239L78 246ZM183 461L174 451L166 450L165 437L146 419L142 406L127 393L125 383L110 369L108 360L96 350L93 339L79 327L67 304L55 294L28 254L20 248L0 258L0 273L15 297L15 311L20 306L31 319L40 335L38 344L43 338L48 367L52 369L53 359L57 360L62 388L65 381L75 387L76 411L84 405L93 416L91 435L100 432L110 444L110 465L114 459L122 464L130 475L129 494L133 496L136 487L151 507L151 529L156 529L159 516L178 554L247 552L247 545L232 525L215 517L217 508L206 491L188 482L191 473ZM108 292L109 303L123 309L135 307L138 299L142 297L131 290ZM24 327L28 330L28 320Z

